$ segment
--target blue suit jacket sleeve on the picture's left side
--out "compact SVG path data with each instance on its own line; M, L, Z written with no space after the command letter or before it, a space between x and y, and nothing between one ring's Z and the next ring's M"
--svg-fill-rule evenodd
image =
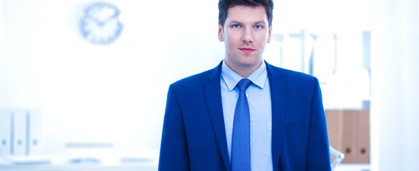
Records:
M159 156L159 171L172 170L189 170L184 121L173 84L168 90Z

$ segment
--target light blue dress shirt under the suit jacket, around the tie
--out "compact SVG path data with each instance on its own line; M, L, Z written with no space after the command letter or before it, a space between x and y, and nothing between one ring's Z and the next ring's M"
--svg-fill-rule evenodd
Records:
M239 90L236 84L243 77L228 68L226 61L221 67L221 99L223 104L224 124L231 162L231 136L233 119ZM251 170L270 171L272 168L272 107L270 86L265 62L247 77L253 84L247 89L247 101L250 110Z

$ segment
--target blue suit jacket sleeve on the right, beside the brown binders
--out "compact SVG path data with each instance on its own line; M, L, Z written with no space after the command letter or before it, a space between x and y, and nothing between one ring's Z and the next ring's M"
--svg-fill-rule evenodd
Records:
M326 126L323 98L317 78L311 99L309 123L309 147L307 149L307 171L330 171L328 129Z

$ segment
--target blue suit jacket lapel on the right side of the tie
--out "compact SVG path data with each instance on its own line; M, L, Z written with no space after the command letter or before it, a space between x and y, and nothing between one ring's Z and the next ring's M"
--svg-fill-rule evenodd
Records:
M284 72L267 64L267 75L270 78L272 103L272 161L274 170L278 170L281 144L284 135L284 116L286 107L286 77Z

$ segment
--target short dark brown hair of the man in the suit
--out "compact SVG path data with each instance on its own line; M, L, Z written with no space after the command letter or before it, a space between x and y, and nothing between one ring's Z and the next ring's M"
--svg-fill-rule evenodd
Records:
M219 0L219 22L224 27L227 18L227 11L233 6L263 6L266 10L269 26L272 24L272 11L274 10L273 0Z

